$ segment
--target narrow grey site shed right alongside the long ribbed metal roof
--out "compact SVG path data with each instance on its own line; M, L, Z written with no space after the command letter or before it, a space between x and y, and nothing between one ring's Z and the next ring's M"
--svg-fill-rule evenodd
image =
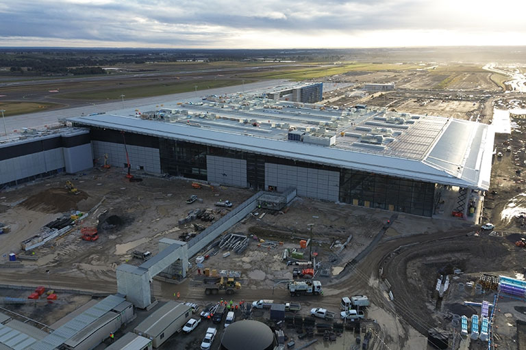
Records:
M91 350L122 325L122 317L115 312L106 312L99 319L84 327L75 336L64 342L68 350Z

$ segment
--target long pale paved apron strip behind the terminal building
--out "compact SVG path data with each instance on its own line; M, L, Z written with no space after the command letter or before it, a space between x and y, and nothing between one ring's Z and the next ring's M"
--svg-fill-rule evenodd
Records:
M136 98L134 100L124 100L124 109L122 101L103 103L95 105L93 103L86 103L84 107L66 108L66 109L54 109L53 111L45 111L39 113L21 114L19 116L12 116L5 118L5 127L9 134L12 134L15 130L20 131L22 128L42 128L45 125L51 125L58 122L60 118L68 118L81 116L90 113L99 113L109 111L124 111L127 114L134 114L135 109L147 111L149 109L155 109L155 106L164 104L164 107L175 105L177 102L199 100L202 96L213 95L213 94L232 94L234 92L253 92L255 90L264 90L276 85L286 83L286 80L269 80L260 81L258 83L249 83L243 85L234 85L229 87L218 87L210 90L200 90L197 92L184 92L181 94L171 94L147 98ZM196 96L197 95L197 96ZM3 123L0 123L1 135L0 139L5 139L3 133ZM12 135L11 135L12 137Z

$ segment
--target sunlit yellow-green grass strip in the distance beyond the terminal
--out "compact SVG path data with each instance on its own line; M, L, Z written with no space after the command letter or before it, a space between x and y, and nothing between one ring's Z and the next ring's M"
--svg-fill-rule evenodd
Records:
M378 71L378 70L410 70L416 69L418 66L411 64L371 64L371 63L353 63L342 65L326 65L314 66L309 68L290 69L284 67L273 72L255 72L240 77L247 78L264 78L264 79L291 79L291 80L305 80L315 79L321 77L329 77L331 75L344 74L346 72L355 71Z

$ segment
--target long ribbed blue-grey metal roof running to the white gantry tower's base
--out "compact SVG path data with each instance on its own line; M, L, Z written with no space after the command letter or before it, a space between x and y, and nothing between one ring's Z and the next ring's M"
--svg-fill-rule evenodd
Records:
M31 347L26 349L31 350L53 350L56 347L64 344L67 340L75 336L85 327L88 327L92 322L96 321L108 311L112 310L118 304L121 304L125 299L123 297L117 297L116 295L109 295L105 297L97 305L92 306L88 310L82 312L77 317L68 321L64 325L55 329L49 336L42 340L34 343Z

